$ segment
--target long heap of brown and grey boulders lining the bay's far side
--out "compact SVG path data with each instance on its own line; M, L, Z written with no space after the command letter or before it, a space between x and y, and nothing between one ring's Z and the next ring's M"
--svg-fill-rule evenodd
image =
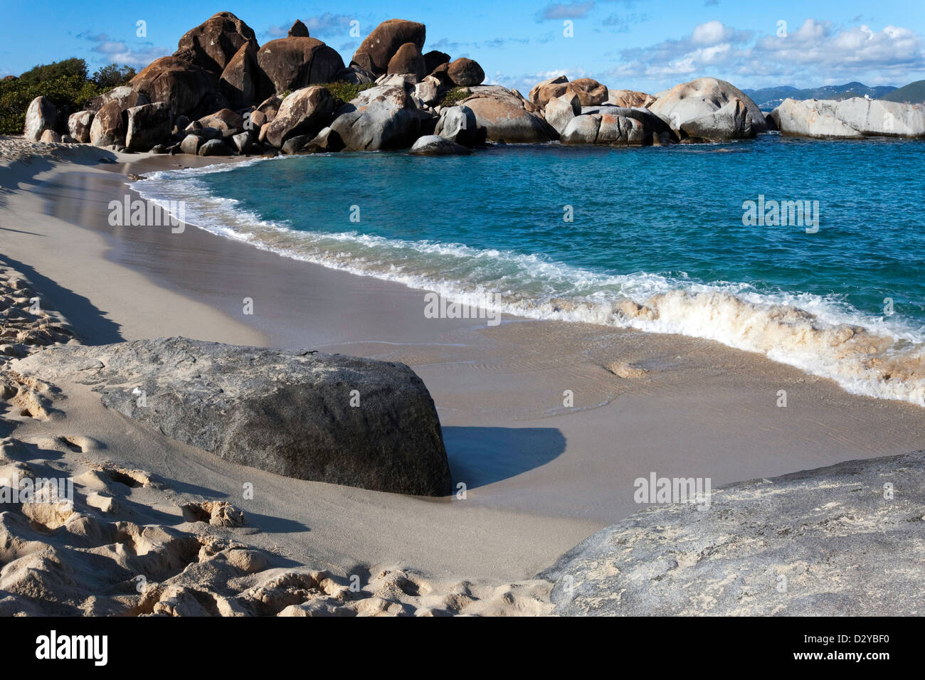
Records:
M219 12L183 35L172 56L68 117L64 136L55 106L37 97L24 134L35 142L191 155L409 148L447 155L486 142L646 146L748 139L774 129L925 136L922 106L892 105L896 111L883 112L879 127L857 104L844 107L845 122L836 111L843 106L832 102L788 100L766 118L745 93L715 78L652 95L560 76L524 97L483 85L485 71L472 59L425 53L425 32L416 21L384 21L344 66L302 21L261 46L251 27Z

